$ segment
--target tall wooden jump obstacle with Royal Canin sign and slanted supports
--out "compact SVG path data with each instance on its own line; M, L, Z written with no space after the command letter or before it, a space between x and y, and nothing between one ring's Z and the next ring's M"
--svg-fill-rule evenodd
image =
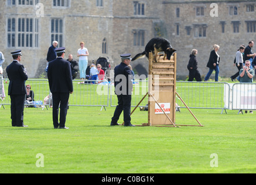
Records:
M149 90L131 112L131 114L134 113L148 95L148 123L138 126L203 127L204 125L201 125L181 96L176 92L176 53L171 56L170 60L167 60L166 54L159 55L157 49L155 48L154 50L155 56L153 56L153 53L149 53ZM181 99L199 125L175 124L176 95Z

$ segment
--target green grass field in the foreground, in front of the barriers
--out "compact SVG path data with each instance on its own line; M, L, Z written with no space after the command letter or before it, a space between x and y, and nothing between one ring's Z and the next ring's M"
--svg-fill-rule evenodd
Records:
M10 106L1 108L0 173L256 172L254 114L192 109L204 127L127 128L110 127L114 108L106 109L70 107L70 129L53 129L52 109L26 108L28 128L17 128L10 126ZM132 114L132 124L146 122L147 112ZM197 122L181 109L176 124ZM211 154L217 154L218 167L211 165L217 160Z

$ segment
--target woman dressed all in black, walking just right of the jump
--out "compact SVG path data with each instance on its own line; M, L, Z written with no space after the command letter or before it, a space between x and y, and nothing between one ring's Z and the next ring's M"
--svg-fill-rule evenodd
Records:
M192 82L194 78L196 79L196 82L201 82L201 75L197 69L197 60L196 60L196 54L197 50L193 49L190 54L189 64L187 68L189 69L189 82Z

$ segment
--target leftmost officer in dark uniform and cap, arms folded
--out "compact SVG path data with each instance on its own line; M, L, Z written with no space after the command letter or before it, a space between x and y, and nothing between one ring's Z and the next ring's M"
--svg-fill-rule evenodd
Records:
M23 123L24 103L26 97L25 82L28 79L27 71L21 61L21 50L12 52L13 62L7 66L6 72L10 80L8 95L10 95L10 113L13 127L27 127Z

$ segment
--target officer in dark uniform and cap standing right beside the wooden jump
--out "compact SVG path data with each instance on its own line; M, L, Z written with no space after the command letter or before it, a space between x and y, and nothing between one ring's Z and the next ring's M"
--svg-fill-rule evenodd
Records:
M118 99L118 105L111 120L111 126L120 125L117 123L120 114L124 110L124 126L134 127L131 124L131 99L133 75L129 64L132 60L131 54L122 54L121 64L114 68L114 86Z

